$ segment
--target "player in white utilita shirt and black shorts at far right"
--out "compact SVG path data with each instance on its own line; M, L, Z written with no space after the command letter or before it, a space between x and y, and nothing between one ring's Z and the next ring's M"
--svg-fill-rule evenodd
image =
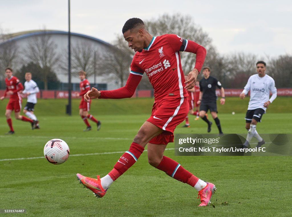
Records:
M266 63L264 61L258 61L256 63L257 73L249 77L244 90L239 95L240 99L244 99L248 91L251 91L251 97L248 103L248 108L245 116L246 125L248 130L244 147L248 147L252 137L258 140L257 147L261 147L265 144L265 141L256 131L256 125L261 121L262 116L266 113L267 107L276 99L277 88L275 81L272 77L265 74ZM272 96L270 97L270 92Z

